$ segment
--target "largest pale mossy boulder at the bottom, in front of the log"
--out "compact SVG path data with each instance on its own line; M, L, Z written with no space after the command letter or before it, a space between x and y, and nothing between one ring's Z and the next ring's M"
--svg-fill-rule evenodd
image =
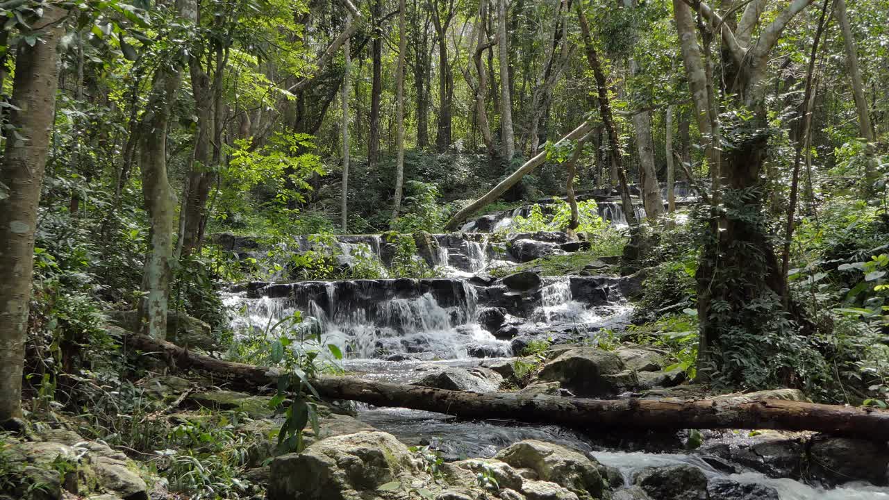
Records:
M268 500L362 500L418 471L411 452L385 432L320 440L271 463Z

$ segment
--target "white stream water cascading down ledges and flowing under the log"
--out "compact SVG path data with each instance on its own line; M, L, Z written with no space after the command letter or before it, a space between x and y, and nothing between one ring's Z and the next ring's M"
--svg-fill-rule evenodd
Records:
M448 235L443 235L445 238ZM376 239L379 241L379 239ZM515 298L503 286L478 286L469 277L485 270L496 259L487 238L466 240L471 244L441 245L432 256L452 278L309 281L239 288L224 301L237 310L233 327L239 335L267 335L268 328L295 310L316 321L324 342L345 353L342 367L364 378L393 383L412 383L441 367L476 367L481 363L513 356L509 341L499 340L479 324L478 312L505 299ZM351 245L351 244L348 244ZM354 247L344 246L348 254ZM380 246L372 247L379 253ZM601 328L629 323L631 308L622 298L618 278L544 278L539 291L523 295L532 303L524 310L510 310L526 332L570 331L597 339ZM578 286L595 286L596 294L577 295ZM594 299L592 295L597 295ZM775 488L781 500L889 499L889 488L848 483L821 489L790 479L772 479L737 466L738 473L721 472L697 454L645 453L615 448L596 437L557 425L503 421L459 421L453 417L404 408L358 405L358 417L387 431L407 444L431 444L447 459L490 457L502 448L526 439L544 440L595 456L616 467L626 479L645 467L691 464L710 478ZM639 438L645 440L645 437Z

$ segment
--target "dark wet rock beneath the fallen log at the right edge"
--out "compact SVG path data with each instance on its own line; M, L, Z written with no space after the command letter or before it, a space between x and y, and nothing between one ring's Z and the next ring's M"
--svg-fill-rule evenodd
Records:
M829 484L864 480L889 483L889 448L885 442L814 436L809 447L809 472Z

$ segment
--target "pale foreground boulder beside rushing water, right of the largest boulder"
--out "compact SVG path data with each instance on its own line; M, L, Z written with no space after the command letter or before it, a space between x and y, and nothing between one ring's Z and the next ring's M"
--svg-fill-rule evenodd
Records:
M532 469L541 480L555 482L578 496L598 498L605 488L595 459L559 445L524 440L494 458L516 468Z

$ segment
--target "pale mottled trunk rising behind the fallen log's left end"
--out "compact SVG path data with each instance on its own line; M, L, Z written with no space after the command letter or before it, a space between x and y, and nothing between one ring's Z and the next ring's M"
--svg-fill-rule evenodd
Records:
M192 24L197 20L195 0L177 3L180 17ZM166 138L172 102L182 80L181 69L161 65L155 74L148 104L142 114L139 139L139 166L142 195L150 222L148 254L142 276L144 296L140 302L143 333L157 339L166 336L167 302L170 297L173 218L176 195L167 177Z

